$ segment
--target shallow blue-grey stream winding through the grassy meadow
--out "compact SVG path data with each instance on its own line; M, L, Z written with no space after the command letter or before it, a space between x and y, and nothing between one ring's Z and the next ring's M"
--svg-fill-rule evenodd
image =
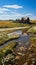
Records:
M1 48L3 48L3 47L5 47L5 46L7 46L8 44L10 44L11 42L20 42L20 43L24 43L24 44L26 44L26 42L29 42L29 40L30 40L30 36L29 35L23 35L22 34L22 31L21 30L18 30L18 31L15 31L17 34L19 34L20 35L20 37L18 38L18 39L14 39L14 40L9 40L9 41L7 41L7 42L5 42L5 44L4 45L2 45L2 46L0 46L0 49ZM14 34L15 34L15 32L13 32ZM12 33L12 34L13 34ZM21 45L22 45L21 44Z

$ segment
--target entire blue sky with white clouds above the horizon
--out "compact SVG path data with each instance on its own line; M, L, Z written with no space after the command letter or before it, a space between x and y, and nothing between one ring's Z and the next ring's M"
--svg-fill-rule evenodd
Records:
M36 0L0 0L0 20L36 19Z

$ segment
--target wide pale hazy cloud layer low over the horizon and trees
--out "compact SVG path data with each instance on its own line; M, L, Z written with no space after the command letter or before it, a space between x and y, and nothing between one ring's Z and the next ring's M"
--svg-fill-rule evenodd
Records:
M1 20L19 19L21 17L26 17L26 16L29 16L30 19L36 19L36 16L34 17L34 15L32 13L26 13L26 14L23 13L22 14L22 13L18 13L16 11L11 11L11 10L9 12L7 12L7 10L4 10L4 9L1 9L0 13L2 13L2 14L0 14L0 19Z

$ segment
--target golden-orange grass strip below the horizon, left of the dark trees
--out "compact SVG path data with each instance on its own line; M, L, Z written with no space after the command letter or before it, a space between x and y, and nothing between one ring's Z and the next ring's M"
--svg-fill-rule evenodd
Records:
M0 21L0 28L12 28L12 27L24 27L24 26L27 26L27 24L14 23L12 21Z

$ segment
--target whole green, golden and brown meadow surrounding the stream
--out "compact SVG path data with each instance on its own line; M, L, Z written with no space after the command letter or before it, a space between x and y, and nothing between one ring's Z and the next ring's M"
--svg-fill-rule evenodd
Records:
M36 20L31 20L31 22L34 23L36 22ZM9 65L9 60L12 65L16 65L16 63L18 63L19 65L20 62L22 65L23 63L24 64L27 63L27 65L31 65L33 57L35 59L34 60L34 63L35 63L36 62L36 56L35 56L36 55L36 24L23 24L23 23L14 23L12 21L0 21L0 29L5 29L5 31L0 31L0 46L4 45L4 43L10 39L19 38L19 35L17 34L8 36L8 34L12 33L15 30L6 31L6 28L14 28L14 27L28 27L26 29L22 29L21 31L23 35L24 33L26 33L27 35L30 35L29 43L31 43L31 45L29 48L26 48L26 46L18 47L18 50L17 50L16 46L19 44L19 42L9 42L9 44L4 46L3 48L0 48L0 65L2 65L2 60L3 62L5 61L4 62L5 65ZM26 42L26 44L27 43L28 42ZM26 49L25 53L24 52L22 53L23 49L24 51Z

